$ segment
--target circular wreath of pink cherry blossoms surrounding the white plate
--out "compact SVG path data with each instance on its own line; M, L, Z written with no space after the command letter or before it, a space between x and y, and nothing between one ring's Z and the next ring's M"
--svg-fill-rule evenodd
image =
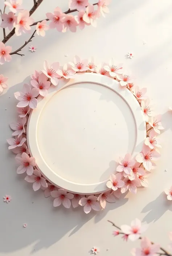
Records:
M30 110L37 107L37 97L46 97L50 86L56 86L60 79L73 78L79 72L98 73L102 76L108 76L119 82L120 86L125 86L135 96L143 110L143 115L146 121L147 138L145 139L142 152L136 155L135 159L130 154L126 154L124 158L119 158L119 165L116 168L116 174L111 174L106 186L107 191L95 195L79 195L72 194L64 189L58 189L51 184L46 178L36 169L36 160L30 156L26 145L25 126L30 114ZM160 116L153 116L150 102L145 96L146 88L139 89L135 86L131 77L122 73L122 67L114 65L112 59L109 64L96 65L93 58L90 60L81 60L78 56L74 57L73 62L69 62L64 66L60 66L59 62L49 65L44 61L44 69L39 72L35 70L31 76L30 85L24 84L22 92L16 92L15 98L19 101L17 104L17 112L19 118L17 122L10 123L10 127L15 138L7 139L9 150L17 154L16 161L19 163L17 174L26 172L25 180L33 183L33 190L37 191L40 188L44 190L45 197L52 196L54 199L53 206L57 207L63 204L64 207L83 206L83 210L88 214L91 209L99 211L106 207L106 202L113 203L119 199L120 195L127 192L136 194L137 187L148 187L147 177L151 169L155 168L152 162L160 157L158 148L160 148L157 135L160 130L164 129L161 126ZM24 134L24 135L23 135Z

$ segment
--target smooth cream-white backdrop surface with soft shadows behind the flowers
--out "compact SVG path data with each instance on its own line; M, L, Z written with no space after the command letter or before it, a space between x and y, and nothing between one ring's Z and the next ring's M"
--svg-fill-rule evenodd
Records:
M24 7L30 9L32 2L24 0ZM33 18L44 19L45 13L53 12L57 6L66 11L67 4L67 0L44 0ZM28 34L13 36L7 45L15 50L28 38ZM28 50L31 44L37 47L35 53ZM172 104L171 0L112 0L110 14L98 20L97 28L88 26L83 31L78 29L77 33L64 34L49 30L45 38L36 36L29 45L22 50L24 57L13 55L11 62L0 66L0 73L9 77L9 89L0 96L0 255L79 256L89 255L93 246L100 248L100 256L130 255L130 249L139 242L126 244L120 237L114 238L114 228L107 220L121 225L129 224L136 217L150 223L145 235L167 248L168 232L172 231L172 206L163 190L172 184L172 113L168 111ZM132 60L126 58L130 51L134 54ZM64 64L75 54L82 58L94 56L97 63L111 57L117 64L122 62L124 69L135 77L135 83L147 88L156 113L162 114L165 127L160 135L162 156L149 177L150 187L108 204L106 210L97 215L94 212L86 215L79 207L53 208L52 199L45 199L42 191L34 192L31 184L16 174L14 155L9 153L6 142L11 137L8 124L16 117L13 93L29 81L35 69L42 68L45 59ZM9 204L3 202L5 194L12 196ZM23 223L28 226L23 228Z

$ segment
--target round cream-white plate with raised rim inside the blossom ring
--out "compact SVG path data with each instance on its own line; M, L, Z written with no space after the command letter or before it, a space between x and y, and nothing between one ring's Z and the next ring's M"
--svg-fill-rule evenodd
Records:
M106 191L119 157L142 151L146 122L133 94L100 74L60 80L30 113L27 142L51 183L76 194Z

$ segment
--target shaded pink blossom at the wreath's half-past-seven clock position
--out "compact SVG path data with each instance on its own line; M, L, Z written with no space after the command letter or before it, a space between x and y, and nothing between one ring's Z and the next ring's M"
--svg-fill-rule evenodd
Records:
M47 188L46 180L41 177L41 173L37 169L34 169L32 175L26 176L25 180L27 182L33 183L34 191L39 190L41 186Z

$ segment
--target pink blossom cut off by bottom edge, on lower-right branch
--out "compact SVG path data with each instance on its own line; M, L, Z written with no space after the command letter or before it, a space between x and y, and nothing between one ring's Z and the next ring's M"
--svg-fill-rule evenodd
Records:
M147 237L143 237L141 240L141 248L134 248L131 253L133 256L156 256L159 249L159 244L152 244Z

